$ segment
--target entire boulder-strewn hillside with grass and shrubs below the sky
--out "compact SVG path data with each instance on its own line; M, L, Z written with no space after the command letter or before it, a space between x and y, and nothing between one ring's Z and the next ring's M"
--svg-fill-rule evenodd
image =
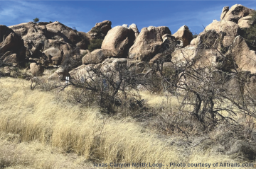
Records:
M0 25L0 168L253 167L256 11L111 25Z

